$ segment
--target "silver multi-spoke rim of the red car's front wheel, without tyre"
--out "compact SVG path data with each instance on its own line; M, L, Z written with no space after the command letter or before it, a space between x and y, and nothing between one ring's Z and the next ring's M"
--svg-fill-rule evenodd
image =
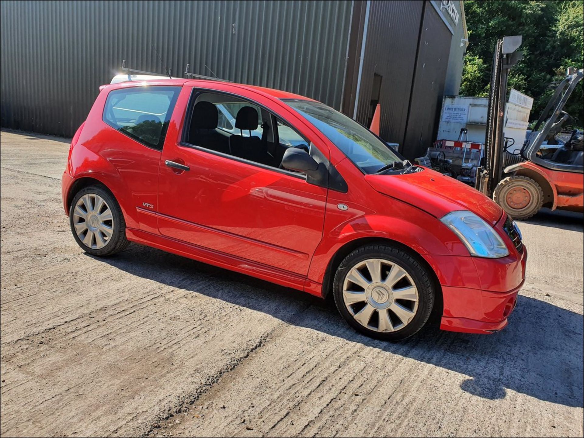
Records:
M418 300L418 288L408 272L381 258L357 263L343 283L345 307L369 330L401 330L416 315Z

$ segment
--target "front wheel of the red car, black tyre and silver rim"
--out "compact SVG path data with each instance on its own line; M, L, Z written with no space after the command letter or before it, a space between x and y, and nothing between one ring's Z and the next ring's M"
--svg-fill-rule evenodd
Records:
M426 268L399 248L368 245L345 257L333 295L347 323L367 336L399 341L418 332L434 306Z

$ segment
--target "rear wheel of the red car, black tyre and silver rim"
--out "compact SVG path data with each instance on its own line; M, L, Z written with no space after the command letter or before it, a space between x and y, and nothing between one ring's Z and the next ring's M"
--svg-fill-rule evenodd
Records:
M90 185L75 194L69 206L69 225L77 244L97 257L119 253L129 243L120 205L100 185Z

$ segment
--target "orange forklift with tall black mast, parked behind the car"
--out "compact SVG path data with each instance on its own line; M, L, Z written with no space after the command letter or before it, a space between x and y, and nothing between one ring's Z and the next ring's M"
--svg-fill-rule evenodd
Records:
M503 114L509 69L521 59L520 36L499 40L493 59L486 125L485 163L477 172L477 190L491 196L515 219L527 219L542 207L584 212L584 147L582 132L573 130L567 141L558 138L562 125L572 121L563 111L583 70L569 68L520 151L525 160L503 169L505 150ZM507 157L506 157L507 155Z

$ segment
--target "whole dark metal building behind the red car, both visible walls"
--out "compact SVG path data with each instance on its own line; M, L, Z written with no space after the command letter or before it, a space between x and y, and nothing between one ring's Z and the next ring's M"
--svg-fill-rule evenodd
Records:
M467 45L461 1L3 1L2 127L72 136L122 59L312 97L407 157L435 139Z

